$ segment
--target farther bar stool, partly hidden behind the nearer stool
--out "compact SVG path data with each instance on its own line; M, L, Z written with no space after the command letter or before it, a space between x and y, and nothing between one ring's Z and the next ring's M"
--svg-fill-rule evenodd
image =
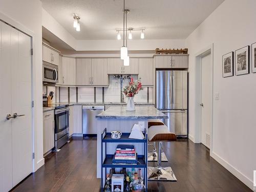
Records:
M148 119L148 129L151 126L156 125L164 125L164 123L160 119ZM157 148L156 148L156 142L153 144L153 151L147 153L147 161L157 161ZM162 143L160 142L160 145L162 147ZM162 152L162 161L168 162L168 159L164 152Z

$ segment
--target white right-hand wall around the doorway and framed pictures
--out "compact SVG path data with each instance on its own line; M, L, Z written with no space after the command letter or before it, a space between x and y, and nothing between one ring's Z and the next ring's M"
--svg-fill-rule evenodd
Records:
M226 0L186 39L189 135L195 136L195 54L214 43L212 157L250 188L256 170L256 74L222 77L222 55L256 42L256 1ZM251 59L251 58L250 58Z

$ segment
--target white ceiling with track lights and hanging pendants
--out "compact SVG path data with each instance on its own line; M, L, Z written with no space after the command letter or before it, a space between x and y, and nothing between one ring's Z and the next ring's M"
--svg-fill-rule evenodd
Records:
M122 28L122 0L41 0L76 39L116 39ZM145 39L184 39L224 0L126 0L127 27L146 28ZM73 13L81 17L81 31L73 28ZM133 32L139 39L140 32Z

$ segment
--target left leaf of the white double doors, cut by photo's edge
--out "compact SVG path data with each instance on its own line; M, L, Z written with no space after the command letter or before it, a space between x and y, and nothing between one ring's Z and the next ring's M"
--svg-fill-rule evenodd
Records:
M12 188L11 27L0 22L0 191ZM3 94L4 93L4 94Z

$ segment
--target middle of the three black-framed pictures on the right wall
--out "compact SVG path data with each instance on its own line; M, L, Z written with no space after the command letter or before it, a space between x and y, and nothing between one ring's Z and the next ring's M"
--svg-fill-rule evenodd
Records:
M249 46L236 50L236 75L249 73Z

